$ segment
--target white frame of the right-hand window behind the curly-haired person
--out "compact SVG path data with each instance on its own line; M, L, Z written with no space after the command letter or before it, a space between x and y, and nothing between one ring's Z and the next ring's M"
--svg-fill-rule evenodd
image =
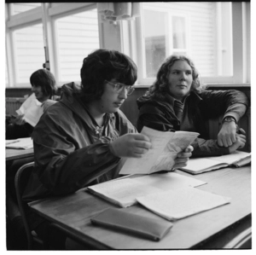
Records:
M247 8L245 2L231 2L232 12L232 45L233 45L233 75L232 76L216 76L216 77L201 77L204 84L250 84L251 78L247 72L250 62L250 49L247 47L247 32L249 31L248 17L250 17L250 8ZM143 13L143 6L141 4L140 13ZM130 55L137 63L138 78L137 87L145 87L153 84L155 78L143 78L143 57L142 49L142 18L137 17L136 20L131 20L129 23L121 21L121 49ZM125 43L126 42L126 43Z

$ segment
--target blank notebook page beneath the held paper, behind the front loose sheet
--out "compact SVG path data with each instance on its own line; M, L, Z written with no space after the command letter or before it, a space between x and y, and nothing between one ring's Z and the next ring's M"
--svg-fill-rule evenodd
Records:
M154 188L160 188L162 190L177 189L183 187L198 187L206 184L201 180L197 180L193 177L186 177L176 172L166 173L154 173L152 175L146 175L143 177L137 177L137 182L147 183Z

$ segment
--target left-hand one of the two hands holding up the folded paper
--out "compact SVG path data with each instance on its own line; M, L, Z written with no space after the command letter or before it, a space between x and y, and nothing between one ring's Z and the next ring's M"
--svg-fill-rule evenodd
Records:
M126 134L110 143L110 151L119 158L142 158L152 144L143 134Z

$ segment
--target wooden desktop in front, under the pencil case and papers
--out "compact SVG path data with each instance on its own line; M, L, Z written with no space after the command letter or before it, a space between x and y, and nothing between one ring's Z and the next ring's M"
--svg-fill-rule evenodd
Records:
M206 181L206 185L198 188L229 196L231 203L174 222L171 231L161 241L149 241L92 225L90 217L117 206L85 189L63 197L35 201L30 206L49 222L57 223L75 235L78 241L90 243L98 249L218 249L224 246L224 238L225 242L229 241L232 233L250 224L251 166L224 168L196 176L177 172ZM153 220L159 217L139 205L125 210Z

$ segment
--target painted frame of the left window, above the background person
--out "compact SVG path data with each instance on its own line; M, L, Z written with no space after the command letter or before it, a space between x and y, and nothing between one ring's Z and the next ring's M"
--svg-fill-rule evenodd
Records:
M29 81L26 84L18 83L16 77L15 64L15 45L13 32L20 28L25 28L35 24L43 24L44 46L46 51L46 59L49 60L50 71L55 73L56 84L61 86L63 82L59 81L59 73L57 68L58 55L55 50L55 20L70 14L84 12L88 9L96 9L96 3L41 3L40 7L24 11L20 14L13 13L14 3L5 3L5 23L6 23L6 41L5 51L8 67L8 81L6 88L28 88L31 87ZM102 46L101 33L102 27L99 24L100 46ZM42 63L43 65L43 63ZM17 85L18 84L18 85Z

